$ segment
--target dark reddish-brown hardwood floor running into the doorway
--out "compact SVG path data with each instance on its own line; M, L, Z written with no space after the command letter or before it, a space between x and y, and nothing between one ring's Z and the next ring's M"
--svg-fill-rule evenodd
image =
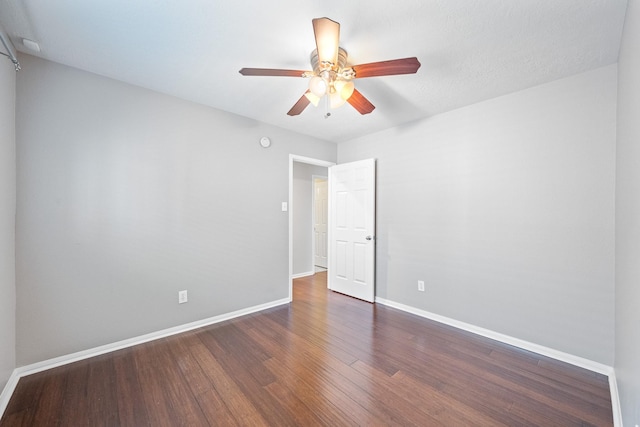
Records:
M294 301L24 377L0 426L606 426L605 376L298 279Z

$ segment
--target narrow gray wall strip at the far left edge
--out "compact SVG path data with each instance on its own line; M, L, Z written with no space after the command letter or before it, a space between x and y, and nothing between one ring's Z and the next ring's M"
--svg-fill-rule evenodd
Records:
M0 391L16 367L16 72L0 56Z

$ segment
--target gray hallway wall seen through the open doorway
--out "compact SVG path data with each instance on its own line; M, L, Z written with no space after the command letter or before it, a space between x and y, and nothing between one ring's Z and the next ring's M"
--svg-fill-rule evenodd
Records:
M327 168L293 162L293 274L313 272L313 175Z

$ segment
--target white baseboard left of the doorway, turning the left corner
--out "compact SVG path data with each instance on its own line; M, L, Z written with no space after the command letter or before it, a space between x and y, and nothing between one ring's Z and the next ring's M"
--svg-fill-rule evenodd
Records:
M102 345L102 346L91 348L88 350L83 350L76 353L71 353L64 356L55 357L53 359L43 360L42 362L37 362L37 363L16 368L13 370L13 374L11 374L9 381L7 382L6 386L2 390L2 394L0 395L0 418L2 418L2 415L4 414L4 411L7 408L7 405L9 404L9 399L11 399L11 395L13 394L16 388L16 385L18 384L18 381L22 377L35 374L37 372L46 371L47 369L56 368L58 366L77 362L79 360L88 359L90 357L99 356L101 354L109 353L109 352L120 350L127 347L132 347L134 345L142 344L145 342L157 340L160 338L168 337L168 336L179 334L182 332L191 331L193 329L202 328L204 326L213 325L214 323L224 322L225 320L231 320L236 317L266 310L268 308L277 307L283 304L289 304L289 302L290 302L289 298L271 301L265 304L255 305L253 307L244 308L241 310L232 311L230 313L221 314L219 316L209 317L208 319L198 320L195 322L187 323L187 324L176 326L173 328L163 329L161 331L140 335L138 337L117 341L111 344Z

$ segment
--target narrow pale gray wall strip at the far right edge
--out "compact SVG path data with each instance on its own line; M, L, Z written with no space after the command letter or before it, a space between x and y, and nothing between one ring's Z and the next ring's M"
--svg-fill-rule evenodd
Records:
M616 361L624 425L640 424L640 2L629 2L618 64Z

